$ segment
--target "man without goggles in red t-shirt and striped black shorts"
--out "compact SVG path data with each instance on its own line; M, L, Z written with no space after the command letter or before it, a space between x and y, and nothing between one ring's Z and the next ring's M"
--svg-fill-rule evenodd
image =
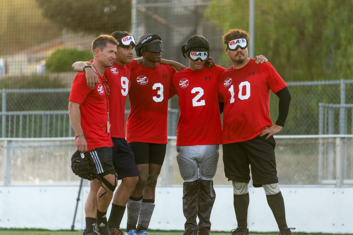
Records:
M117 185L109 128L109 87L104 77L104 71L112 66L116 58L117 45L116 40L109 35L100 35L93 40L94 61L91 66L98 75L99 82L91 89L86 85L85 74L77 74L71 87L68 105L77 149L81 154L89 153L96 164L98 176L107 188L106 190L100 186L98 179L92 180L86 199L88 204L95 204L91 202L91 198L97 198L97 209L92 213L95 213L95 231L99 235L109 235L106 213ZM90 206L94 208L93 205ZM94 234L92 227L89 234Z

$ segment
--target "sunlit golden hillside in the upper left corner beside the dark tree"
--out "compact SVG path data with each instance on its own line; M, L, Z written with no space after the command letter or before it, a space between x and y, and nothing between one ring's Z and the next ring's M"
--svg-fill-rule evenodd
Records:
M0 1L0 55L19 52L60 34L59 27L42 16L36 0Z

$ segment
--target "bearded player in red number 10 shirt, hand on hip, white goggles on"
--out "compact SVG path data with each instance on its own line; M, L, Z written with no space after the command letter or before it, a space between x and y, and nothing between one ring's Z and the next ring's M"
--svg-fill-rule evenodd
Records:
M232 61L219 78L223 113L223 163L234 187L234 210L238 228L233 235L249 235L247 210L250 169L254 187L263 187L278 224L280 235L291 235L278 185L274 134L281 131L288 115L291 94L270 63L256 64L248 58L249 34L231 29L223 35L226 54ZM270 92L279 97L279 116L273 125L269 114Z

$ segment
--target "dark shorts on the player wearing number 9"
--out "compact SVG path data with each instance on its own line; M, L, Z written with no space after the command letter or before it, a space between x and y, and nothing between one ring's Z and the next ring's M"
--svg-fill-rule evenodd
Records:
M118 178L138 176L135 157L125 138L112 138L113 165Z

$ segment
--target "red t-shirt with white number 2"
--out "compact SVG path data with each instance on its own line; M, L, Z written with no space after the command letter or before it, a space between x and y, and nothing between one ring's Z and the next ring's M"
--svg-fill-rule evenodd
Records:
M186 68L173 75L170 93L177 94L180 102L178 146L221 143L217 83L225 70L219 65L204 66L198 71Z

